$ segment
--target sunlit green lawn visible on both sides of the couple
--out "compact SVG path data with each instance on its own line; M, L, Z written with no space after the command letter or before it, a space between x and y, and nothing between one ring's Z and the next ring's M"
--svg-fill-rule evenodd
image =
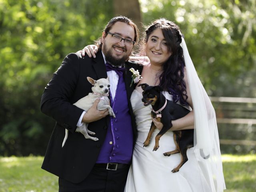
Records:
M56 192L58 177L41 169L43 157L0 158L0 192ZM225 192L256 191L256 155L222 155Z

